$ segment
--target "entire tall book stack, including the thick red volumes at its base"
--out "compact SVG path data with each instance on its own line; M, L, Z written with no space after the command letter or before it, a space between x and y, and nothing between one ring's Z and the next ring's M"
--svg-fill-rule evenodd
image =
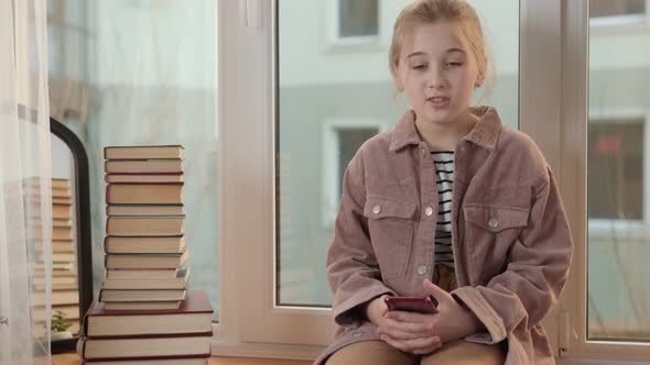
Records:
M207 364L207 295L187 290L183 147L106 147L106 276L77 351L89 364Z

